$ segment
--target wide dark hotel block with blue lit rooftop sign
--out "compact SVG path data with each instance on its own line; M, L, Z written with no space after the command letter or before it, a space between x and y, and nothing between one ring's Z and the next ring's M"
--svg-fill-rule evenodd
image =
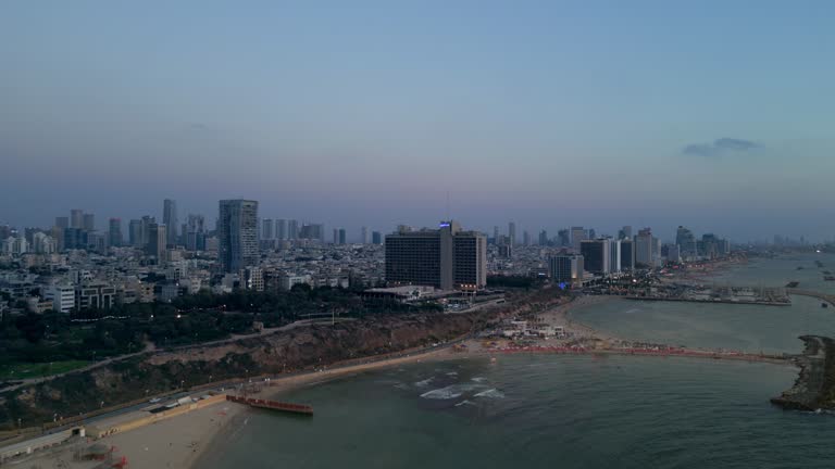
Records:
M457 221L386 236L386 280L441 290L487 284L487 240Z

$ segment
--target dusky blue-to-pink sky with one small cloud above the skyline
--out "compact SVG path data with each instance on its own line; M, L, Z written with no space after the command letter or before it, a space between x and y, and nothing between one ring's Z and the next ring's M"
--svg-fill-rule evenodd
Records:
M831 1L0 2L0 223L835 237ZM449 200L449 203L447 201ZM210 224L211 225L211 224ZM349 236L350 238L351 236Z

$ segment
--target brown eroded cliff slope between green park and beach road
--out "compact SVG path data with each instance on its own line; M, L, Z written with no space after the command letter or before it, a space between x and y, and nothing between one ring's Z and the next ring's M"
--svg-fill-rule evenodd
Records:
M489 317L484 313L377 316L216 346L158 352L4 393L0 396L0 422L12 428L21 418L24 427L32 427L51 422L55 414L73 417L180 385L278 375L398 352L460 338Z

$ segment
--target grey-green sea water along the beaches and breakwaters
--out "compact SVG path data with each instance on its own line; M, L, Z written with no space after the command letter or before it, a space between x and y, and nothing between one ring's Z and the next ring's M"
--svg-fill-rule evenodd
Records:
M835 255L794 254L710 281L835 293ZM797 269L797 267L803 267ZM613 300L574 320L624 339L799 353L834 334L835 308ZM241 468L832 468L835 415L769 403L787 365L684 357L500 355L416 363L286 391L313 417L249 411L201 467Z

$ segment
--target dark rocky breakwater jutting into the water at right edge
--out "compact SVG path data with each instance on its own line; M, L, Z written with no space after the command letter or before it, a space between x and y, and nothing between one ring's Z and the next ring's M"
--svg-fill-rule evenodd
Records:
M803 354L795 359L800 373L792 389L772 404L793 410L835 408L835 341L822 335L801 335Z

